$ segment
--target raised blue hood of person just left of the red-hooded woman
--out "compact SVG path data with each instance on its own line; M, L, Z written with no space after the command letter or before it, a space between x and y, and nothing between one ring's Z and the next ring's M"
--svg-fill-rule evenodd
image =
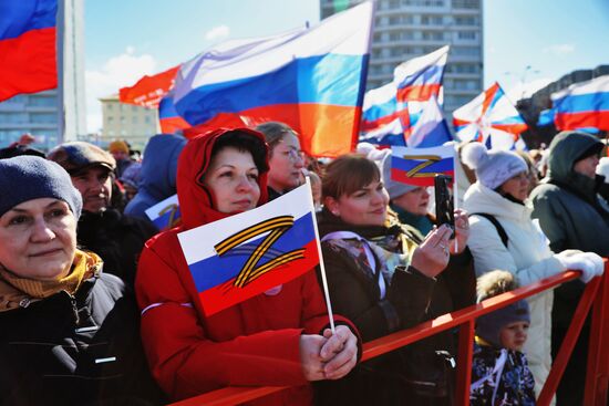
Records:
M140 190L156 202L175 195L177 158L186 138L174 134L157 134L148 140L140 174Z

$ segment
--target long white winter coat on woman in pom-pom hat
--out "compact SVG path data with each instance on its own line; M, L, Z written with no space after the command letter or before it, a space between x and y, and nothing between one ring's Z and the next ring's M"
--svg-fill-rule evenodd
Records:
M565 271L549 249L548 240L538 223L533 222L530 208L504 198L478 181L467 189L464 208L469 214L485 212L495 216L508 237L506 249L489 220L481 216L471 217L467 246L474 256L477 275L500 269L512 272L519 285L526 285ZM535 377L537 395L551 366L553 299L553 291L528 299L530 327L524 351Z

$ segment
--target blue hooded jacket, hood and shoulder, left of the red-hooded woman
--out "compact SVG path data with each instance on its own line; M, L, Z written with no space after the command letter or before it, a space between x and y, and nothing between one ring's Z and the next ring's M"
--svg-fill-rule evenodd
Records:
M125 207L125 214L147 221L146 209L176 194L177 158L186 138L173 134L157 134L144 150L137 195Z

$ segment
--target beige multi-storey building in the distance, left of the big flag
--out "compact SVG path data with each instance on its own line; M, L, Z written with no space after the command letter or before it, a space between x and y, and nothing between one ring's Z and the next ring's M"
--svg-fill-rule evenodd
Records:
M103 128L100 142L127 140L132 148L142 150L148 138L159 133L158 110L146 108L118 101L118 95L100 98Z

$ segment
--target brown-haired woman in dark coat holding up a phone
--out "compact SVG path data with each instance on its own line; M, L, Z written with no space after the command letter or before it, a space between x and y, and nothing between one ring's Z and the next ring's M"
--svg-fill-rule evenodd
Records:
M319 231L330 299L364 342L475 302L464 214L456 216L458 253L446 226L416 240L388 212L375 164L358 155L328 166L322 194ZM340 404L348 397L361 405L446 404L453 346L448 332L372 360L338 384L320 385L320 402ZM333 396L341 393L344 397Z

